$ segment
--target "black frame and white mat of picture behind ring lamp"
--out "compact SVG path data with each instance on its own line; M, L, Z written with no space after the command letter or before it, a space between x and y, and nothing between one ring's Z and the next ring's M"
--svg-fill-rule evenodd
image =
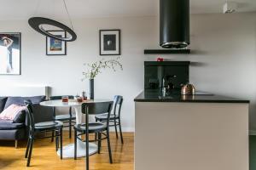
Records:
M49 30L49 32L51 32L52 34L55 34L57 35L56 33L59 32L61 33L62 37L67 37L67 31L61 31L61 30ZM58 41L58 42L61 42L61 48L64 48L64 49L61 49L60 52L56 52L56 51L50 51L49 48L50 48L50 41L51 40L55 40L55 41ZM62 46L62 43L63 43L63 46ZM57 40L53 37L46 37L46 48L45 48L45 52L46 52L46 55L67 55L67 42L64 42L64 41L61 41L61 40Z

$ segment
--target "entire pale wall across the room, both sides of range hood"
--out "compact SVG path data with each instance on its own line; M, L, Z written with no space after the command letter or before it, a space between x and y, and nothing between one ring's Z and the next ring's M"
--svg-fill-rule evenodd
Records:
M46 56L45 37L33 31L26 20L1 21L0 31L21 32L21 76L0 76L1 84L48 85L52 94L88 91L81 82L83 63L99 56L100 29L121 29L121 62L124 71L103 71L96 77L96 98L123 95L123 125L134 130L133 99L143 90L144 48L157 48L158 21L155 17L73 20L78 40L67 43L67 56ZM251 99L256 111L256 14L196 14L191 16L193 54L165 55L166 59L190 60L190 80L200 90ZM157 116L156 116L157 117ZM253 116L252 116L253 117ZM256 120L251 118L251 122ZM256 122L254 123L256 129Z

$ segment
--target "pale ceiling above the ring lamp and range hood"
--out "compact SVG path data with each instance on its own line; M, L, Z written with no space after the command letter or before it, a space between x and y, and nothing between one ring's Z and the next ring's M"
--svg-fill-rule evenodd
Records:
M222 13L226 0L190 0L192 14ZM66 0L72 18L154 16L159 0ZM256 11L256 0L234 0L237 12ZM0 0L0 20L67 18L63 0Z

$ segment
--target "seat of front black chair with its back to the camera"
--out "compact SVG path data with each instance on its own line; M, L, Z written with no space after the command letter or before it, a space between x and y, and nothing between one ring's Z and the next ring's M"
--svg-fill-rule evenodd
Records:
M86 124L75 124L73 126L77 131L85 133L86 131ZM96 133L100 131L104 131L107 129L107 124L102 122L90 122L89 123L89 133Z

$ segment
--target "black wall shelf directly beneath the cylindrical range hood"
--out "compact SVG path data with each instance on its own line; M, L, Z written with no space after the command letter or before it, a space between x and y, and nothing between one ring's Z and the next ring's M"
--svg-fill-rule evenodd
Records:
M190 54L190 49L145 49L144 54Z

